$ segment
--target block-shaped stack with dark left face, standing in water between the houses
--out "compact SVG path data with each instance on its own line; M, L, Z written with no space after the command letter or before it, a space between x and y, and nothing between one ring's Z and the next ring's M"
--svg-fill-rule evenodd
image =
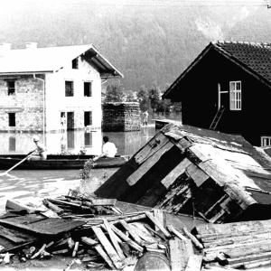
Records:
M139 103L105 103L102 108L102 131L126 132L140 130Z

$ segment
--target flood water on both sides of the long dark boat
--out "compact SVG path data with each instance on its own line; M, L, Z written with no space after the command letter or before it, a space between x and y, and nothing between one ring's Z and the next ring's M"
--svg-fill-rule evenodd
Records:
M133 155L145 145L156 133L154 125L143 126L140 131L125 133L102 133L97 131L64 131L61 133L38 134L41 142L48 148L49 154L60 154L68 150L78 154L81 146L87 154L100 154L102 136L108 135L117 146L117 154ZM35 148L33 133L0 133L0 154L28 154ZM0 170L0 213L5 213L5 203L10 199L24 199L27 202L39 201L46 197L67 195L70 190L94 192L117 171L113 169L96 169L91 172L91 183L86 185L79 178L79 170L65 171L18 171L1 175Z

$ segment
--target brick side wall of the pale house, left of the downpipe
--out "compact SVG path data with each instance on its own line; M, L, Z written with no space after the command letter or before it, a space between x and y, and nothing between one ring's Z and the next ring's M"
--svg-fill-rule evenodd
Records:
M8 95L7 80L15 80L15 93ZM15 126L9 126L9 113L15 114ZM0 79L0 130L42 131L42 81L33 75Z

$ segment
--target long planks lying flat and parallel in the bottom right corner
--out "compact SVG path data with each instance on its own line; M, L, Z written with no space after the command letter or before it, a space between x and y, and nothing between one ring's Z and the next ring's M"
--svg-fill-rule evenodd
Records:
M208 224L194 229L209 266L252 269L271 266L271 221Z

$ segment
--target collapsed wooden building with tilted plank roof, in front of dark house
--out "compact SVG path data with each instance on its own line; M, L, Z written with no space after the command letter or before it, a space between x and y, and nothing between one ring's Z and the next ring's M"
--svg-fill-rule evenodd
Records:
M241 136L169 124L95 194L210 222L271 219L271 159Z

